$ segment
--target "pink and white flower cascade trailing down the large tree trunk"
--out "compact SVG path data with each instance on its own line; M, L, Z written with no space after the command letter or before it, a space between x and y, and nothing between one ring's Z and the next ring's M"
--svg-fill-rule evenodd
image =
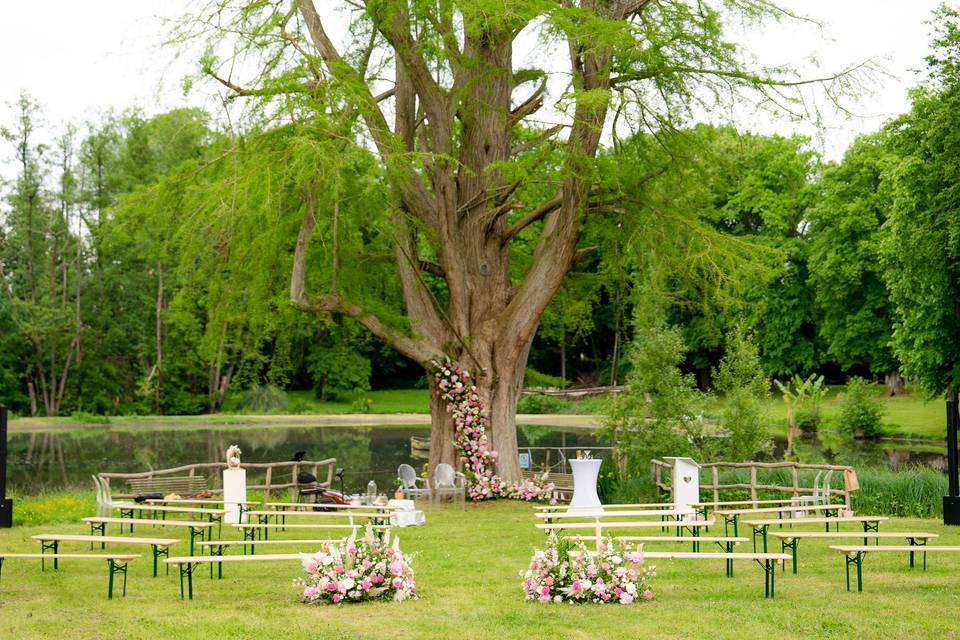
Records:
M474 501L497 497L516 500L549 500L554 485L545 477L526 480L507 486L493 471L497 452L490 448L487 427L490 416L486 405L470 381L470 372L456 363L445 360L436 364L434 382L441 397L447 401L447 411L453 417L454 446L464 464L467 493Z

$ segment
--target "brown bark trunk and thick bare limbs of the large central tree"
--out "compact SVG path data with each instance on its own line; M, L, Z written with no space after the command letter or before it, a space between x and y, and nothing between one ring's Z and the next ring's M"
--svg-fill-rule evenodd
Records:
M605 18L625 18L636 2L583 2ZM513 40L526 24L517 19L478 21L456 33L451 4L440 3L436 26L450 61L452 78L442 84L431 71L403 0L367 5L376 40L395 58L393 125L369 90L364 65L351 66L324 29L313 0L297 8L316 53L331 76L357 89L356 108L388 171L393 195L393 233L398 275L409 330L391 327L352 303L333 287L308 295L305 287L314 198L307 206L296 245L291 299L299 308L350 316L401 354L432 373L432 362L450 358L467 369L491 417L490 437L498 451L498 473L521 479L517 459L516 402L527 355L540 317L573 267L592 161L607 115L611 54L596 42L569 38L569 65L576 95L566 127L563 167L542 202L520 202L521 180L504 175L517 161L514 128L542 106L545 84L532 90L514 75ZM475 28L473 28L475 27ZM361 56L363 57L363 56ZM516 105L516 106L514 106ZM549 141L560 127L533 146ZM529 143L522 145L527 150ZM417 161L411 161L415 157ZM519 216L511 216L520 212ZM536 229L525 274L511 271L510 243ZM532 229L531 229L532 230ZM435 253L430 273L442 277L441 304L424 281L425 260ZM432 378L432 375L430 376ZM453 432L446 402L431 382L430 467L453 460Z

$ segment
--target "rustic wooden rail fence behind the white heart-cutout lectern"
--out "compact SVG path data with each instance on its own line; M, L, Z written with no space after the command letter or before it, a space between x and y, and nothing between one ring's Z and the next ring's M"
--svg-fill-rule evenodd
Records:
M664 480L663 473L665 470L672 468L673 465L668 462L663 462L662 460L650 461L650 471L653 474L653 481L657 486L658 494L660 492L673 493L673 488L667 482L670 479L670 473L667 471L666 480ZM720 471L723 469L749 469L750 482L720 484ZM770 469L789 469L793 482L789 486L761 483L757 478L758 471ZM800 471L802 470L841 472L843 475L843 488L831 488L830 493L842 495L844 504L847 505L848 509L850 508L850 493L856 491L860 486L857 481L857 472L854 471L853 467L832 464L799 464L797 462L707 462L700 465L700 491L701 494L704 490L712 492L713 502L720 502L721 491L749 489L750 500L754 501L754 506L756 506L756 500L760 499L757 495L758 491L787 493L794 498L799 497L801 494L813 494L816 491L815 487L800 485ZM707 483L704 483L704 473L709 474L710 481Z

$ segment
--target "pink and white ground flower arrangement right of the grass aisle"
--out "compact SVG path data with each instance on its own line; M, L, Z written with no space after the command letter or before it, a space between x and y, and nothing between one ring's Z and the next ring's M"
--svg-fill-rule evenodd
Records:
M520 575L527 600L632 604L653 599L650 579L657 574L653 565L644 566L640 547L618 550L607 538L591 554L583 542L571 544L551 533Z

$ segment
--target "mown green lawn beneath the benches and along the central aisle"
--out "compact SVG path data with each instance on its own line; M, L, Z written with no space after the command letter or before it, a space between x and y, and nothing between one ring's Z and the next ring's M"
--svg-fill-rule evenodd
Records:
M92 511L92 502L87 506ZM80 508L64 507L71 517ZM36 561L10 560L0 581L0 638L960 637L960 557L932 555L924 572L910 570L905 554L869 556L864 593L847 593L843 561L826 541L803 541L800 575L778 575L775 600L764 599L762 572L749 562L736 563L728 579L722 561L678 560L658 564L651 603L525 602L518 573L543 540L531 512L505 501L471 505L428 513L426 527L399 530L404 550L416 554L423 594L401 604L301 605L292 586L299 567L284 563L225 565L222 581L198 571L195 599L181 601L175 576L150 577L149 551L131 564L127 597L107 601L99 562L65 561L59 572L40 573ZM942 535L939 544L960 544L960 529L931 520L895 519L881 530L933 531ZM0 530L0 549L36 551L30 535L49 531L86 533L74 523Z

